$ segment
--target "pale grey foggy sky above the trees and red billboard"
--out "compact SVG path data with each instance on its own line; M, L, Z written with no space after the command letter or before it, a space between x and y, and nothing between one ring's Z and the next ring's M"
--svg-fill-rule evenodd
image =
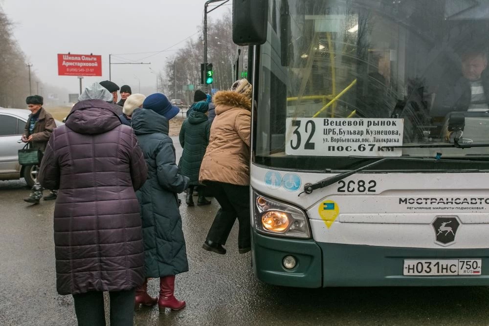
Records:
M109 54L161 51L195 34L203 19L205 0L0 0L15 24L13 35L42 82L78 93L75 76L58 76L57 53L102 55L102 77L85 77L83 87L109 79ZM209 14L217 19L232 3ZM197 33L197 34L196 34ZM156 74L166 56L172 57L182 42L154 54L120 55L112 62L145 62L151 65L112 65L112 81L131 86L133 93L156 91ZM151 56L149 58L145 58ZM122 57L126 60L121 60ZM145 58L145 59L143 59ZM139 80L138 80L139 79ZM33 85L36 85L34 81ZM34 88L35 89L35 88Z

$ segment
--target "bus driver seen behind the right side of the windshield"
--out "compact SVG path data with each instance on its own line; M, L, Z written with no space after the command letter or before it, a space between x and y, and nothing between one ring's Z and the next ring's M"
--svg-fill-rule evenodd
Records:
M488 59L485 49L467 49L460 55L461 75L444 79L436 94L431 116L444 117L452 111L489 110Z

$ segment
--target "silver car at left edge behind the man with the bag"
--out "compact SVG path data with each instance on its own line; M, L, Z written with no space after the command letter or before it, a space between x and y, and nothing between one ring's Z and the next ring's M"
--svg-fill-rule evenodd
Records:
M27 186L32 187L38 167L20 165L18 157L18 150L25 146L21 138L29 114L27 109L0 108L0 180L17 180L23 177ZM57 127L63 125L61 121L54 121Z

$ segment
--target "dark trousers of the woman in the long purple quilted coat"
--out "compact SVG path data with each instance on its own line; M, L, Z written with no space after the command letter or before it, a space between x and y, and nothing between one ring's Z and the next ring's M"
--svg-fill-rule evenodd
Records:
M111 325L133 326L135 289L109 292L111 297ZM105 326L103 292L73 294L78 326Z

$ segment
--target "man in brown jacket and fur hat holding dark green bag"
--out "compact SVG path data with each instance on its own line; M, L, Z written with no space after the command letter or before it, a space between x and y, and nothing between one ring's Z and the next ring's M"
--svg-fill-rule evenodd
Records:
M56 128L56 123L54 122L53 116L43 108L44 100L42 96L27 96L25 103L31 111L31 114L25 123L22 141L29 143L31 148L44 152L47 141ZM43 187L36 178L30 196L24 198L24 201L31 204L39 204L39 200L43 197L43 190ZM51 190L49 195L44 196L43 199L56 199L57 194L57 191Z

